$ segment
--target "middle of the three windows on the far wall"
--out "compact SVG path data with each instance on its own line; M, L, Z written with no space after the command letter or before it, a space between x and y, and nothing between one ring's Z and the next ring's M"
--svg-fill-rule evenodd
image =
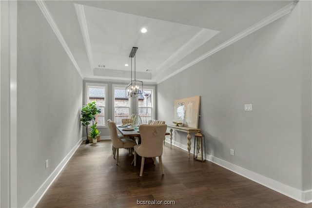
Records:
M126 97L126 86L113 85L114 122L122 124L121 119L130 118L130 99Z

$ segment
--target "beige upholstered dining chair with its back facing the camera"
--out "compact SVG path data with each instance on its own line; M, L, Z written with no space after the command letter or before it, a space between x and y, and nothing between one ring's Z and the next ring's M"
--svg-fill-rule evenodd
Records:
M141 144L136 145L134 147L135 166L137 166L137 154L142 157L140 176L142 176L143 174L145 157L152 157L154 159L154 164L156 164L156 157L158 157L160 169L162 171L162 174L164 174L164 170L162 168L161 155L162 155L162 150L163 150L162 141L165 137L166 130L167 130L166 124L160 124L160 125L142 124L140 125L139 132L141 134Z

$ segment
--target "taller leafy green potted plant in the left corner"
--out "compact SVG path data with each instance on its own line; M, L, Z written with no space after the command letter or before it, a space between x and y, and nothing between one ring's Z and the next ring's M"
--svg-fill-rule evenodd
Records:
M88 126L90 124L90 121L92 121L92 124L94 124L96 120L96 114L98 113L101 113L101 110L97 108L95 101L90 102L85 106L82 106L80 121L82 126L86 128L87 133L86 144L89 144Z

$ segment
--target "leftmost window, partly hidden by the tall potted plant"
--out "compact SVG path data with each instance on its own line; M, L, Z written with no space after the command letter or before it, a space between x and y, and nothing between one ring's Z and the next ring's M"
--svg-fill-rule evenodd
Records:
M98 126L106 126L107 115L107 84L86 83L86 104L95 101L97 108L101 109L101 113L96 115Z

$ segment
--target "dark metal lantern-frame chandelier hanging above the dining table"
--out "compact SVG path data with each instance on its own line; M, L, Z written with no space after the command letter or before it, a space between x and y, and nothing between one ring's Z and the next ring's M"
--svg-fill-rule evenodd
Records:
M139 95L142 95L143 92L143 82L136 79L136 53L137 53L137 47L132 47L132 50L130 52L129 57L131 57L131 81L126 87L126 97L137 97ZM132 59L135 59L134 62L134 79L132 79Z

